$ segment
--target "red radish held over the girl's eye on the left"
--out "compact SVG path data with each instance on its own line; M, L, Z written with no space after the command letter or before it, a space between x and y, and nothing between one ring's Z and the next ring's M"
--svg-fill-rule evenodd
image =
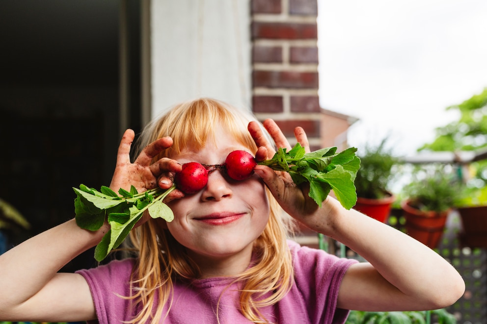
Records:
M208 171L197 162L183 164L183 169L175 177L176 187L185 194L194 194L208 183Z

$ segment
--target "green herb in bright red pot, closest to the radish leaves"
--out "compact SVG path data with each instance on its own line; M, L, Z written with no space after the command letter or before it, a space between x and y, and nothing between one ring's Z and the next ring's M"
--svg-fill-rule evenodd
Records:
M387 222L391 204L396 199L388 185L393 166L399 161L385 144L386 139L383 139L379 146L367 146L364 154L359 155L360 169L355 177L357 203L353 207L382 223Z

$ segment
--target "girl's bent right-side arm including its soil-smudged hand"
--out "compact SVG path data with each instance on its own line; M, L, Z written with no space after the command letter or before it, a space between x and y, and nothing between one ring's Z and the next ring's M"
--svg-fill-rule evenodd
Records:
M278 147L290 149L278 126L266 120L264 126ZM255 123L249 132L260 146L256 158L271 157L274 149ZM309 151L303 129L295 136ZM284 210L302 224L345 244L369 263L352 265L345 274L338 307L366 311L425 310L449 306L465 289L460 274L427 246L386 224L355 210L346 210L328 197L318 208L289 174L257 166L259 174Z

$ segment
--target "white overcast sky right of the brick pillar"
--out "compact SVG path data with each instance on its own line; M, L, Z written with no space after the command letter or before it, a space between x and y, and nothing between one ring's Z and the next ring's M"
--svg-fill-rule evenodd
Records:
M320 103L360 119L351 146L413 154L487 87L487 0L318 3Z

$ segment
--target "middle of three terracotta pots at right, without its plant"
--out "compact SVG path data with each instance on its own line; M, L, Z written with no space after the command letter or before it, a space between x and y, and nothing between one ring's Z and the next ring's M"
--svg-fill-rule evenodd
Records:
M406 218L406 232L409 236L431 249L438 246L450 209L444 212L421 211L410 205L409 200L401 203Z

